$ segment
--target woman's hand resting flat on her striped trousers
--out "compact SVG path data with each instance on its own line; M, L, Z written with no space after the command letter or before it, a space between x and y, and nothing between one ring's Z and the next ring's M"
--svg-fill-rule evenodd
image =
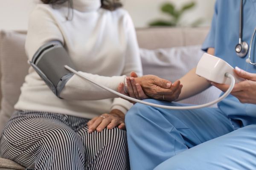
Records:
M118 127L119 129L125 129L125 114L118 109L113 109L109 114L105 113L101 116L97 116L91 119L87 126L89 127L89 133L93 133L95 130L97 132L102 132L106 127L108 129L113 129Z

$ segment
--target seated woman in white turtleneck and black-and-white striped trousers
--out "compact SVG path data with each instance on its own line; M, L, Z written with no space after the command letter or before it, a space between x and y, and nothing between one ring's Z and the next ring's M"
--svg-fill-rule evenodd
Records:
M134 25L118 0L42 2L29 18L29 61L54 41L82 74L114 90L131 71L142 74ZM27 169L128 170L124 118L131 103L115 97L76 75L56 96L29 68L0 154Z

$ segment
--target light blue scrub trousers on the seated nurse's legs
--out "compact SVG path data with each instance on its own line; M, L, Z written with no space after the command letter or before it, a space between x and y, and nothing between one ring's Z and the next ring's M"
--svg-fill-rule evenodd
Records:
M125 123L131 170L256 169L256 125L235 130L219 108L180 111L137 103Z

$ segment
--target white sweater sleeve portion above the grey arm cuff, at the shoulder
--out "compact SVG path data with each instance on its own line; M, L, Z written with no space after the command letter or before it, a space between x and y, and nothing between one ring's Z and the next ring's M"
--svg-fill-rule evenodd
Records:
M26 37L25 48L29 60L42 45L54 40L64 44L64 38L54 17L47 9L36 7L29 16Z

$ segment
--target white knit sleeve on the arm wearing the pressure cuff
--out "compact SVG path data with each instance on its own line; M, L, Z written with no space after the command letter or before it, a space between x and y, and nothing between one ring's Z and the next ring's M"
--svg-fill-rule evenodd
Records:
M36 8L29 18L29 28L26 38L26 53L29 60L35 52L47 42L58 40L64 45L64 37L58 28L52 14L45 9ZM84 76L93 79L101 85L117 90L120 82L124 82L125 75L105 77L85 72ZM61 91L60 97L68 100L99 100L117 97L90 82L84 81L81 77L73 75Z

